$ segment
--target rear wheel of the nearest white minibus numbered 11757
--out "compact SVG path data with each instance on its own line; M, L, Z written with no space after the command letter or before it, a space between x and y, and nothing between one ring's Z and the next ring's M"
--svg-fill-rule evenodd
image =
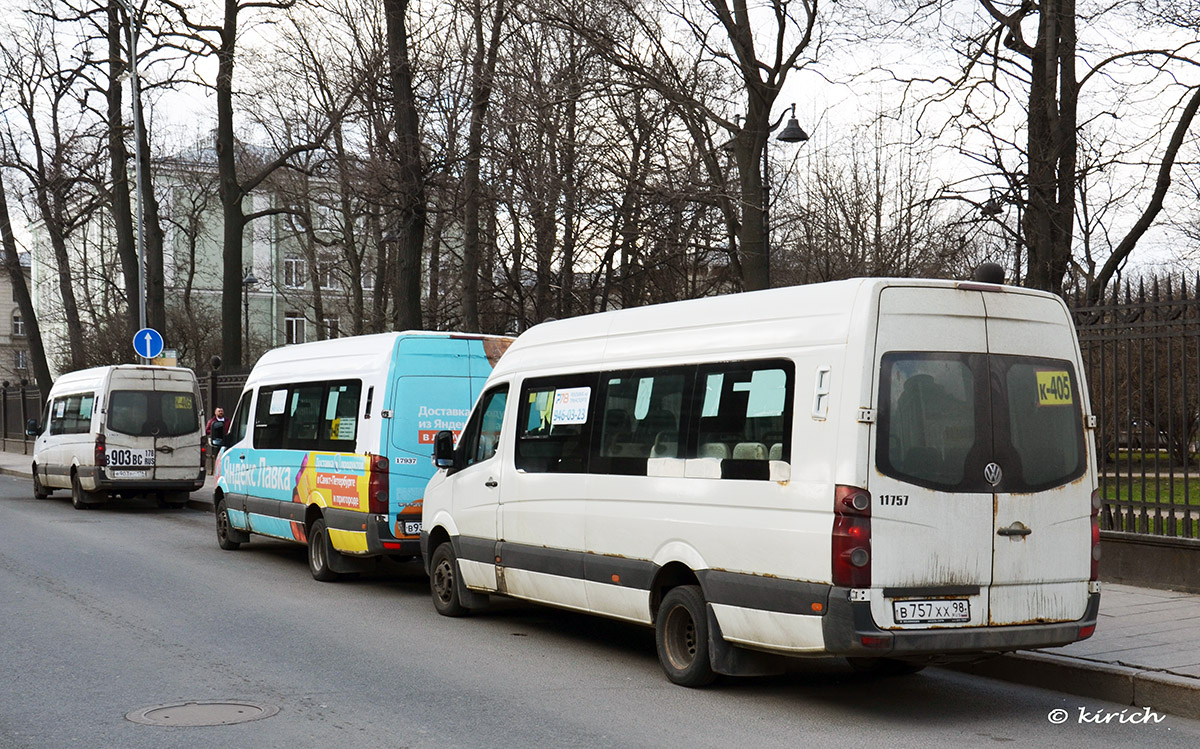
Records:
M680 687L704 687L716 678L708 657L708 610L700 586L671 588L654 621L659 664Z

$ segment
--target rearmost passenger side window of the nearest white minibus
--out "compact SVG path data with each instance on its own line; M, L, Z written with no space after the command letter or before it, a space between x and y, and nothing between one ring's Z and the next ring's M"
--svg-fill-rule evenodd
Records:
M769 461L790 462L794 371L780 360L701 367L696 457L719 459L722 479L767 480Z

